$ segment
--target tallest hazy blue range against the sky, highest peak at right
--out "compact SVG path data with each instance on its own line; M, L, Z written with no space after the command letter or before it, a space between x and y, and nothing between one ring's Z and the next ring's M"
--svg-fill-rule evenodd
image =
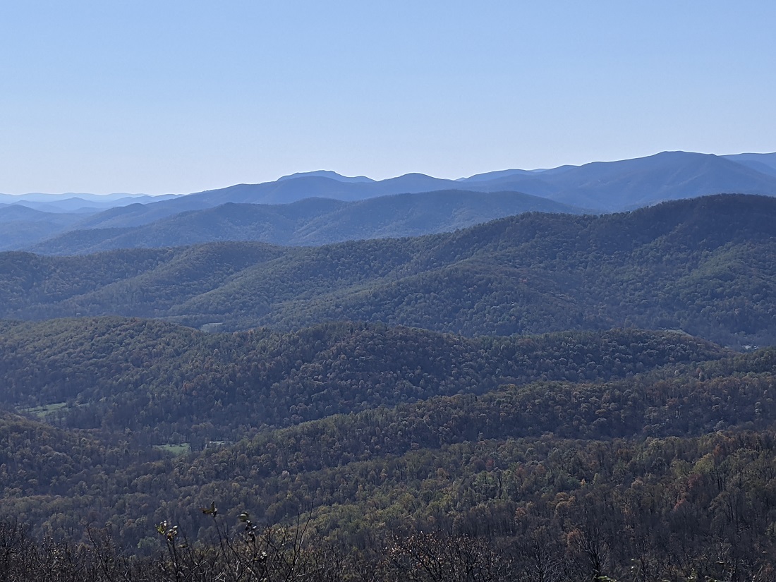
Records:
M198 192L188 198L206 200L211 205L268 204L289 203L310 196L359 200L398 193L466 189L524 192L595 212L618 212L708 194L776 195L776 154L741 155L743 158L667 151L648 158L540 171L496 171L459 180L407 174L380 182L352 182L353 178L312 172L278 182ZM764 168L769 169L764 171Z

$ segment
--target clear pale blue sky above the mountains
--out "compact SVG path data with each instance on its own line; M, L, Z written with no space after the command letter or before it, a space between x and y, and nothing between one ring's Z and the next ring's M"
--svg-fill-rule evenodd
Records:
M2 0L0 192L776 151L776 2Z

